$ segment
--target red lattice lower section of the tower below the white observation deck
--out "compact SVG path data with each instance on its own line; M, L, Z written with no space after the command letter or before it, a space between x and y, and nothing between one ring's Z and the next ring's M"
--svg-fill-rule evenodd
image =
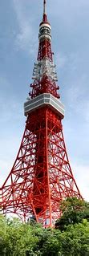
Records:
M43 226L59 218L59 203L82 198L67 156L63 127L49 108L32 112L14 166L2 186L2 209L21 217L34 215Z

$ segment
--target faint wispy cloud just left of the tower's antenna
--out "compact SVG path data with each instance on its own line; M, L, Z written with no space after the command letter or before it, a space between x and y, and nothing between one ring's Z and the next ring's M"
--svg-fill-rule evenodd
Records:
M35 36L33 16L30 12L29 19L27 18L24 10L25 3L23 1L13 0L13 2L19 30L16 35L15 46L17 50L21 49L33 54L38 39L38 37Z

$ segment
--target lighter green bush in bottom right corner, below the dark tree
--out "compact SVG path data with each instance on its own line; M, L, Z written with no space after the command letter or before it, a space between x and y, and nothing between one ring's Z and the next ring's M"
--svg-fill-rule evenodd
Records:
M67 230L62 232L61 253L63 256L89 256L87 221L67 226Z

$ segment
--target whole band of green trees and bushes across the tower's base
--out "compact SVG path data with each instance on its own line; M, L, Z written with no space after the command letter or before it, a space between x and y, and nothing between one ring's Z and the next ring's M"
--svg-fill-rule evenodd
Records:
M67 198L60 207L60 230L0 215L0 256L89 256L89 204Z

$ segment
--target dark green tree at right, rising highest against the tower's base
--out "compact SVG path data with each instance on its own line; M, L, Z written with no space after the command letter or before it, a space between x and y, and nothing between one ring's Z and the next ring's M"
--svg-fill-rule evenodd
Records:
M83 219L89 221L89 203L76 197L67 197L60 205L63 215L55 222L59 230L66 230L68 225L81 223Z

